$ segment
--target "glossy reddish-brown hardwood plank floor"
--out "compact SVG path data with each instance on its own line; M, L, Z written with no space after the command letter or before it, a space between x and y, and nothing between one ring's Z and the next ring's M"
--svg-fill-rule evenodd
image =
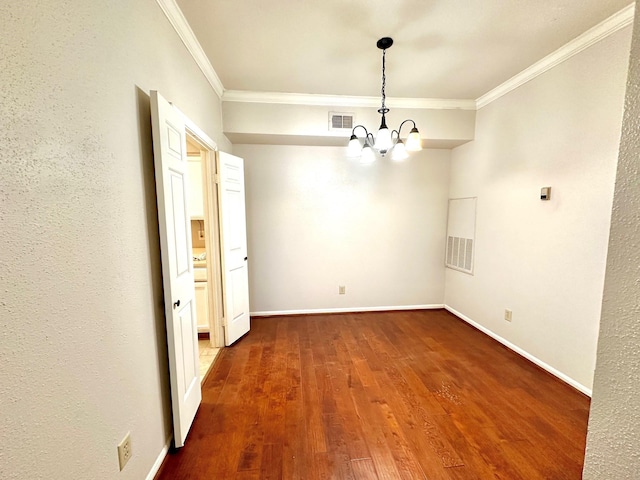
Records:
M589 399L444 310L256 318L158 479L580 479Z

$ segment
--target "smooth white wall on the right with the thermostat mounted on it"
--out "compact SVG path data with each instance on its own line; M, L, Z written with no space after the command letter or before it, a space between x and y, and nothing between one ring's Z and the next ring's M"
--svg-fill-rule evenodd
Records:
M477 196L475 275L445 303L592 386L630 28L482 108L450 196ZM539 199L552 187L551 201ZM513 321L504 310L513 310Z

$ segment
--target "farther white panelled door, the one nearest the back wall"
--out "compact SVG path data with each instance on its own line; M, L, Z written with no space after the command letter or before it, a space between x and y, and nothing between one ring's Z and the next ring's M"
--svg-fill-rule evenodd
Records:
M228 153L218 153L220 175L220 240L225 344L231 345L249 331L249 273L247 224L244 203L244 162Z

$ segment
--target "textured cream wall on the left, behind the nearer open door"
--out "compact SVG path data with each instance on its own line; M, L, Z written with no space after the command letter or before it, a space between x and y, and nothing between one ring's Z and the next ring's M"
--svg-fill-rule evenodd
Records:
M139 480L171 432L148 92L228 148L219 99L154 0L0 31L0 478Z

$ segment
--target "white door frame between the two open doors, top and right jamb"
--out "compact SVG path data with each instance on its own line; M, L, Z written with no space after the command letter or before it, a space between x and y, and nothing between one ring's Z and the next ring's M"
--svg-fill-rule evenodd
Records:
M175 107L175 106L174 106ZM180 111L179 109L177 109ZM218 145L198 125L180 111L184 118L187 136L200 147L204 202L205 248L207 255L207 279L209 280L209 340L213 347L224 347L224 310L222 300L222 252L220 250L220 226L218 204L218 176L216 156Z

